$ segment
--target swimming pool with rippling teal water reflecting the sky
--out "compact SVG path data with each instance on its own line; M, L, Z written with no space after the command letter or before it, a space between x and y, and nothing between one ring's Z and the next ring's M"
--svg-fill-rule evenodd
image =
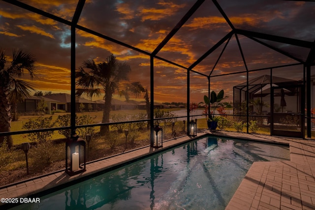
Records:
M41 197L15 210L223 210L254 161L280 145L204 137Z

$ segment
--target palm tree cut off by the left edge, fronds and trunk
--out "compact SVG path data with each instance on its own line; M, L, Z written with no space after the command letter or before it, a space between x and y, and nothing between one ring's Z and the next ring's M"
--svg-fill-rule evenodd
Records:
M10 132L11 128L11 105L21 98L30 96L31 84L21 79L24 70L27 70L31 78L35 73L35 58L33 55L22 50L13 50L11 64L5 66L7 61L4 52L0 51L0 132ZM0 136L0 144L4 136ZM12 146L12 137L7 136L8 146Z

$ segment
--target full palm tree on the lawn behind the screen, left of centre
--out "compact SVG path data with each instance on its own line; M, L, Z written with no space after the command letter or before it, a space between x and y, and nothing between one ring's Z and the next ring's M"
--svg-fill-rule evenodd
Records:
M88 71L85 70L88 69ZM83 61L83 66L76 70L76 84L81 88L76 90L76 95L86 94L89 97L104 96L104 111L102 122L109 122L111 100L115 90L119 88L121 80L127 80L131 68L125 62L120 63L114 55L107 57L105 62L96 64L95 60ZM100 134L109 132L109 126L101 126Z

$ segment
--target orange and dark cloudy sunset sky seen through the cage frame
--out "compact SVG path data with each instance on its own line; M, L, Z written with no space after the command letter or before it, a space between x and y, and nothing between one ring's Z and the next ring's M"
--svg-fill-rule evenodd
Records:
M23 3L71 21L78 0L20 0ZM152 53L189 11L196 0L86 0L78 25ZM288 0L218 0L237 29L314 42L315 2ZM157 56L189 67L231 31L212 0L205 0ZM249 70L297 63L245 36L238 35ZM262 41L262 39L261 39ZM283 43L266 43L298 59L306 60L309 48ZM225 43L194 71L209 75ZM36 58L36 90L70 93L70 27L31 11L0 1L0 49L10 58L22 49ZM150 58L137 51L76 30L76 68L83 60L106 60L110 54L131 66L129 82L139 81L150 89ZM155 63L155 100L187 101L187 70L158 59ZM233 35L212 76L245 71ZM299 72L293 72L299 70ZM251 73L251 78L270 71ZM300 80L303 66L279 69L274 76ZM28 77L25 77L27 80ZM250 78L250 79L251 79ZM212 90L224 89L232 97L233 86L246 81L246 74L214 77ZM200 102L207 91L207 79L190 73L190 100ZM232 98L231 98L232 100Z

